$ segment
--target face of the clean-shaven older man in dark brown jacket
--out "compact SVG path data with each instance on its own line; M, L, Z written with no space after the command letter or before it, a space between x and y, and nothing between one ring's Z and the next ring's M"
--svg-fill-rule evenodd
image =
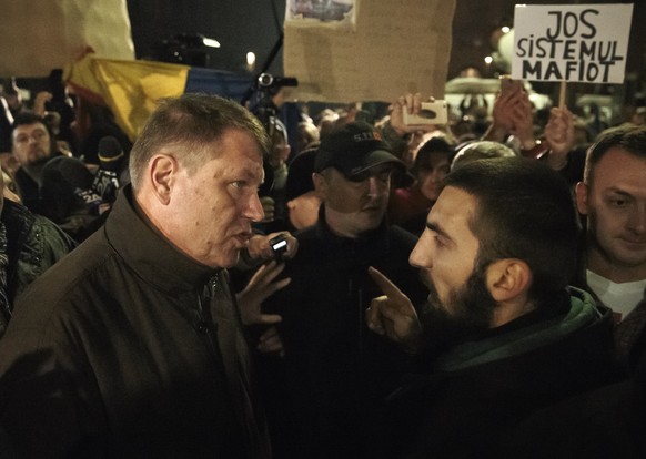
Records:
M169 178L166 221L159 226L198 262L231 267L252 236L251 223L264 216L258 196L261 151L250 134L233 129L203 149L198 165L186 167L179 161Z

